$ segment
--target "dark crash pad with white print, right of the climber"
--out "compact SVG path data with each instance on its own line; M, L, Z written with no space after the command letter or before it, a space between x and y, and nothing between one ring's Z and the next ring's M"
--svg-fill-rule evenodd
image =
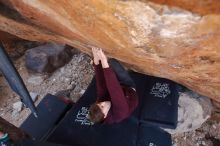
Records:
M178 118L178 84L164 78L145 75L142 85L140 121L175 129Z

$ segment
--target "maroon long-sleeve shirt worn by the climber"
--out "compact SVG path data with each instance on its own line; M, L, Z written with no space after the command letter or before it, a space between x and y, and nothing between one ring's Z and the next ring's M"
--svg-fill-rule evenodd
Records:
M121 86L111 68L94 65L97 101L110 101L111 108L104 123L117 123L127 118L138 105L138 96L131 87Z

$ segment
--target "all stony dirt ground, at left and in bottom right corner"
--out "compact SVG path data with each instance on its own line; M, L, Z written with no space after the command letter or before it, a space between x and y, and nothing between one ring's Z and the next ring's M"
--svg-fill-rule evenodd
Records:
M38 94L36 104L47 94L70 89L71 99L76 102L86 90L94 71L90 57L83 53L73 55L72 60L52 74L34 74L27 71L24 56L15 61L16 68L25 81L29 92ZM13 111L13 103L19 97L8 87L0 76L0 116L19 126L30 113L23 108L21 112ZM172 135L174 146L220 146L220 122L208 120L201 128L182 134Z

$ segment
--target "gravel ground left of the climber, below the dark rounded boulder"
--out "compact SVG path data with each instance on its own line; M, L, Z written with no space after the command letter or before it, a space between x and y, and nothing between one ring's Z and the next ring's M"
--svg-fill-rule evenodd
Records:
M52 74L34 74L27 71L24 56L16 60L15 66L23 78L29 92L36 93L36 104L47 94L55 94L58 91L70 89L71 99L76 102L86 90L93 77L93 69L90 57L85 54L75 54L72 60L64 67L57 69ZM19 126L30 114L29 110L21 112L13 111L13 103L19 101L19 97L8 87L5 79L0 77L0 115Z

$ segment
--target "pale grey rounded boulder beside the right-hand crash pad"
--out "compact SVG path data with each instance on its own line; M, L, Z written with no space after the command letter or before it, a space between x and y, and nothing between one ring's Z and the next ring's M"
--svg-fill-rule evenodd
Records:
M177 128L165 129L171 134L184 133L201 127L210 118L212 103L208 97L188 91L180 93Z

